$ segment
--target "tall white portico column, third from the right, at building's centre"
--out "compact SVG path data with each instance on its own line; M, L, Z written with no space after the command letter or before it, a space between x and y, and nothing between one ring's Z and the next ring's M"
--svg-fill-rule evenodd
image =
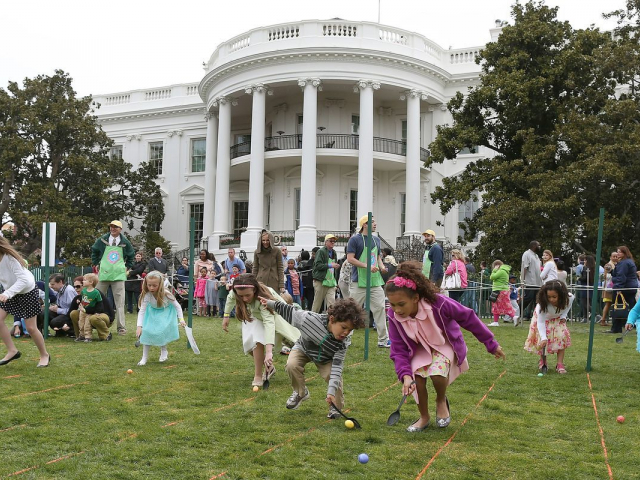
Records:
M300 227L296 230L296 247L305 250L318 243L316 230L316 128L318 124L318 78L298 80L304 92L302 109L302 169L300 173Z

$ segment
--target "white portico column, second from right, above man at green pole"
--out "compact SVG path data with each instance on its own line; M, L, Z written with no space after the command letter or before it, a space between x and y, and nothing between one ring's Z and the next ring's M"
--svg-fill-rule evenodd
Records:
M360 133L358 154L358 218L373 212L373 91L380 83L360 80Z

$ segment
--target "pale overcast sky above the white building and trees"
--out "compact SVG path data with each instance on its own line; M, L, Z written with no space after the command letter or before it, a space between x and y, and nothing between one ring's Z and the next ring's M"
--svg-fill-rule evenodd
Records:
M256 27L339 17L378 21L379 0L8 0L0 14L0 87L68 72L81 95L200 81L216 47ZM443 48L484 45L514 0L380 0L381 23ZM624 0L548 0L576 28L610 29Z

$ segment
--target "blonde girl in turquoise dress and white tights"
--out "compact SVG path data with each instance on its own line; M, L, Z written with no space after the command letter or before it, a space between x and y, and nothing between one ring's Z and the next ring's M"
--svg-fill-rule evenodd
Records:
M177 340L178 325L185 326L182 308L169 290L162 287L162 274L157 270L149 272L142 282L142 293L138 300L138 329L136 336L142 344L142 359L139 366L147 364L149 347L160 347L160 362L166 362L169 358L167 343Z

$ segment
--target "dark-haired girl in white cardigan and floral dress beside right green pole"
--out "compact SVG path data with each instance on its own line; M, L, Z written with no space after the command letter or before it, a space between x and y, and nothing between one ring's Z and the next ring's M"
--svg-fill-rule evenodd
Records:
M571 346L571 335L567 328L567 313L571 310L573 295L567 290L567 286L559 281L547 282L538 292L538 304L531 319L529 336L524 342L524 349L531 353L542 355L542 349L546 347L546 353L558 354L558 373L567 373L564 368L564 351ZM545 366L542 357L538 362L538 368Z

